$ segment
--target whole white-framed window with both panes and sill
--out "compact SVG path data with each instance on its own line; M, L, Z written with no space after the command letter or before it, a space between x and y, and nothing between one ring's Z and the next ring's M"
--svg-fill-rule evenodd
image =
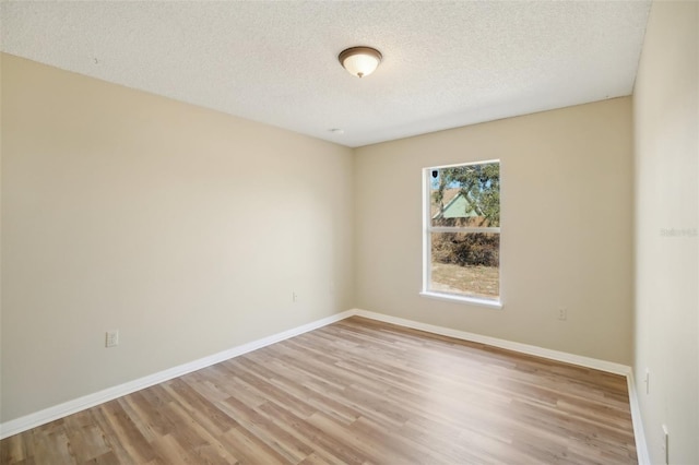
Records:
M500 162L423 176L423 295L500 307Z

